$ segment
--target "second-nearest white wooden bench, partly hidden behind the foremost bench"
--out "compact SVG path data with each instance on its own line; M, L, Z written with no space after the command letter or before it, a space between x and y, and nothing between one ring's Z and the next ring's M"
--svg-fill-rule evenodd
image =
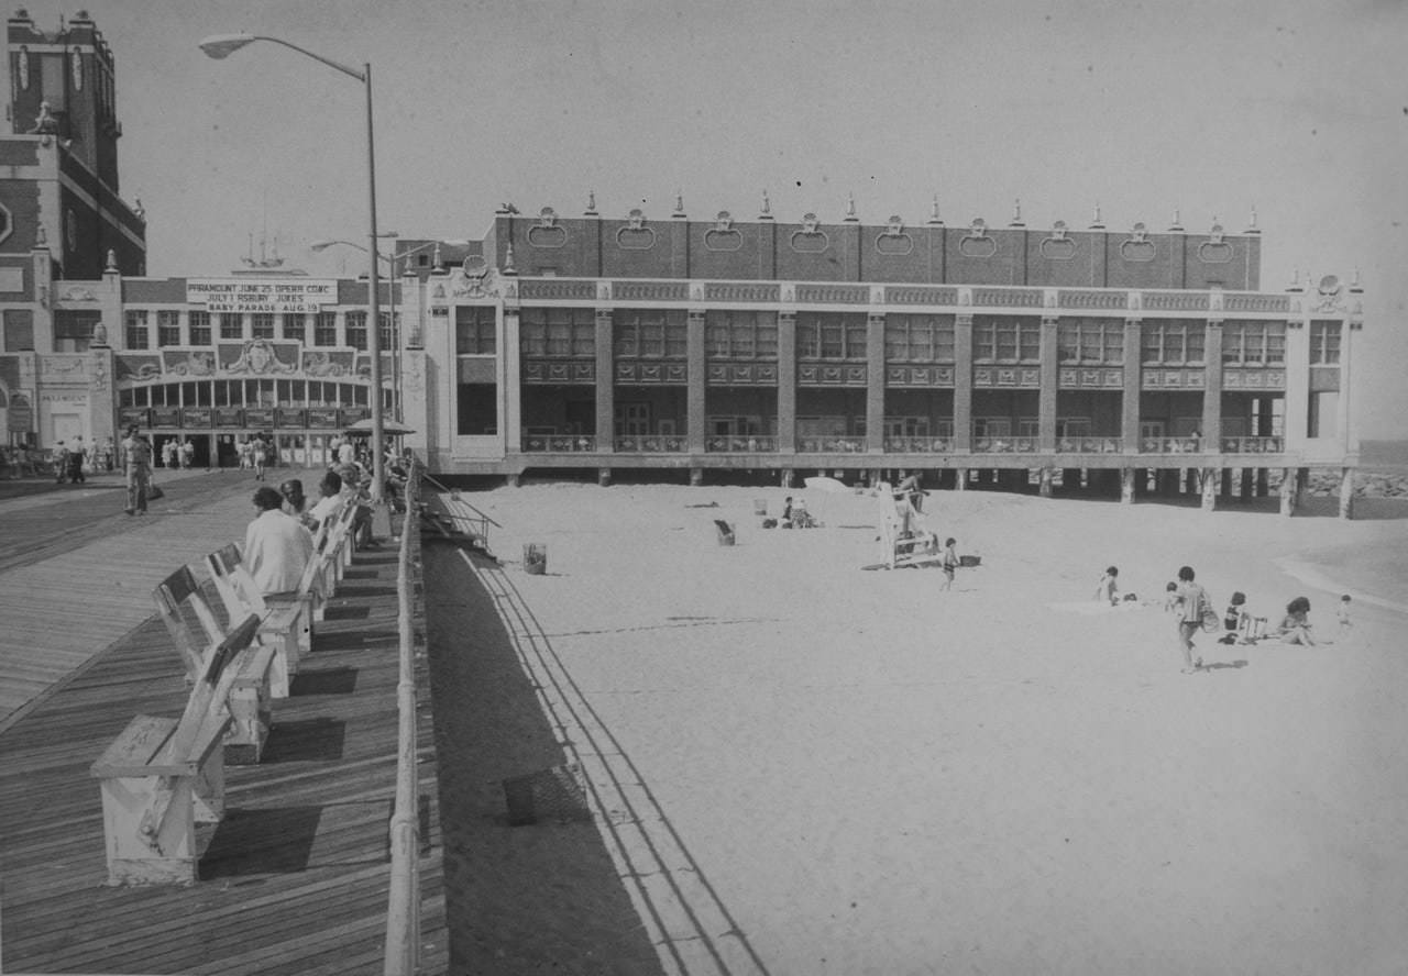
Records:
M158 584L152 591L152 602L156 603L186 668L186 682L194 685L206 667L207 648L228 634L215 619L189 567L183 565ZM193 633L187 610L200 624L199 634ZM224 700L231 717L230 731L225 734L225 762L231 765L259 762L263 755L270 726L269 683L273 657L272 646L251 647L232 665L237 671Z

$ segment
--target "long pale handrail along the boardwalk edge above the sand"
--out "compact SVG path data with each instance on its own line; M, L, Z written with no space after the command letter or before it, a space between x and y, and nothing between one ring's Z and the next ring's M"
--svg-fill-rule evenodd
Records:
M417 464L406 482L406 515L397 557L397 637L400 675L396 683L398 719L396 807L391 813L391 879L386 908L386 976L414 976L421 945L420 778L415 766L415 640L413 626L411 541L417 537L420 480Z

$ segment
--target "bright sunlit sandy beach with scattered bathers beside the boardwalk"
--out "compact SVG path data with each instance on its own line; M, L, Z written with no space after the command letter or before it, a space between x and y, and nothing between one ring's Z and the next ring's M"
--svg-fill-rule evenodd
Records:
M787 494L825 527L763 530L755 499L776 513ZM542 741L521 768L476 768L476 824L460 840L446 824L449 908L493 900L494 866L548 844L534 831L614 865L615 892L596 869L563 879L563 906L624 890L635 908L612 908L635 928L629 966L558 959L566 932L514 956L491 914L460 918L486 958L518 958L496 972L1391 973L1408 958L1408 506L1343 522L932 492L928 527L981 557L945 593L938 570L863 568L883 560L863 495L466 499L501 523L503 565L477 571L489 599L445 599L501 627L518 674L496 679L522 682ZM524 574L525 543L548 547L545 575ZM1094 612L1110 564L1140 602ZM1183 564L1219 609L1243 591L1273 623L1309 596L1328 638L1349 592L1353 631L1201 636L1209 668L1180 674L1160 605ZM480 638L448 640L473 655ZM593 821L504 826L491 776L555 755L582 765Z

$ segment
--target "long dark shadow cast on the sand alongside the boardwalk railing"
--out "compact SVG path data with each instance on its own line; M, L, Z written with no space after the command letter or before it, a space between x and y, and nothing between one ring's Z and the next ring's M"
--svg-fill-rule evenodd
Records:
M567 757L470 567L422 556L451 972L662 973L594 824L510 826L503 781Z

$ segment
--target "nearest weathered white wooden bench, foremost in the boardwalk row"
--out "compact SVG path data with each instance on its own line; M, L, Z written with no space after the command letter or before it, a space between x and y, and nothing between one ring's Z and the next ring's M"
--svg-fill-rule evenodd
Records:
M90 768L101 781L108 885L196 880L196 824L225 813L220 707L259 619L246 617L210 648L180 719L134 717Z

